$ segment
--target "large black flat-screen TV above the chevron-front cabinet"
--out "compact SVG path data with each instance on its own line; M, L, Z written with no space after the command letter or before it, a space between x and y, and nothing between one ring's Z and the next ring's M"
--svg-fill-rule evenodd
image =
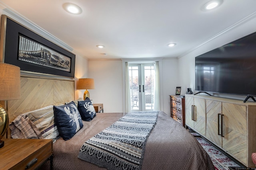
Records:
M256 33L196 57L195 90L256 95Z

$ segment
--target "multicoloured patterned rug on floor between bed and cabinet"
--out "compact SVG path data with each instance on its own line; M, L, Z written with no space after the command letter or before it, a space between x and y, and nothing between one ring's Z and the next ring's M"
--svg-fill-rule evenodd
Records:
M200 135L196 132L190 131L190 133L197 139L197 141L202 145L204 150L208 153L210 156L212 163L215 167L215 170L229 170L228 167L241 167L239 164L234 162L231 158L226 156L223 152L221 152L219 149L214 147L212 144L210 144L208 141L200 137Z

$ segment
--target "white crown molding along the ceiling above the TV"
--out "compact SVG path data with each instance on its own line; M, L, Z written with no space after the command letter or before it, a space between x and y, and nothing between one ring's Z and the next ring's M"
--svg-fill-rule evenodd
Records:
M207 39L206 41L200 43L200 44L197 45L196 47L194 47L194 48L192 48L192 49L186 51L185 53L183 53L182 55L180 55L180 56L178 57L178 59L181 58L181 57L184 57L184 56L187 55L188 53L191 53L192 51L198 49L199 47L201 47L202 45L204 45L204 44L206 44L206 43L212 41L213 39L216 39L217 37L220 37L220 36L222 36L222 35L224 35L224 34L230 32L230 31L232 31L233 29L236 29L237 27L240 27L241 25L244 25L245 23L247 23L247 22L250 21L250 20L253 20L254 18L256 18L256 12L254 12L254 13L250 14L249 16L243 18L242 20L236 22L235 24L231 25L230 27L224 29L224 30L221 31L220 33L218 33L218 34L214 35L213 37Z

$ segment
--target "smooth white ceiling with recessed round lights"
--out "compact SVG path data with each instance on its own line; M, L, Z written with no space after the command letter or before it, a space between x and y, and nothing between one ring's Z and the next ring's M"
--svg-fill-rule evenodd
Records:
M1 0L87 59L182 57L256 12L256 0ZM66 2L82 14L66 12ZM245 3L246 2L246 3ZM167 44L176 43L174 47ZM104 45L100 49L96 45ZM104 55L102 53L106 53Z

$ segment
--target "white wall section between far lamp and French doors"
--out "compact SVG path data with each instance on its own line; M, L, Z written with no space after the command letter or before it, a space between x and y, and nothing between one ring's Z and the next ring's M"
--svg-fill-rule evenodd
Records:
M122 61L88 61L88 68L88 78L94 78L95 89L88 90L93 103L103 104L104 112L122 112Z

